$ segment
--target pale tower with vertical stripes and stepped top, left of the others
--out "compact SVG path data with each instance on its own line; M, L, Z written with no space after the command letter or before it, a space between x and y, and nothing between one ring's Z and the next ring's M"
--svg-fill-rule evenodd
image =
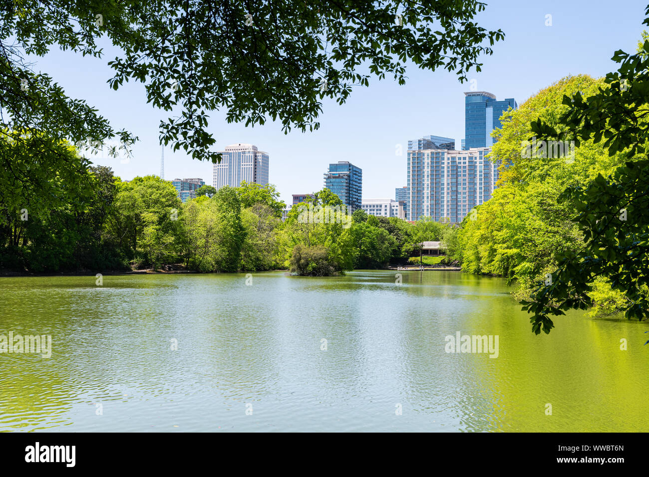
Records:
M221 162L214 164L214 188L239 187L241 182L268 184L268 153L252 144L231 144L225 147Z

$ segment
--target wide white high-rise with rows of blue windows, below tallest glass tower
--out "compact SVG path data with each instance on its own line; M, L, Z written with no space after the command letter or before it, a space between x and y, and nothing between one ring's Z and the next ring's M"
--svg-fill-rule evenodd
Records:
M467 151L408 151L408 217L459 223L476 205L491 199L498 165L486 158L489 147Z

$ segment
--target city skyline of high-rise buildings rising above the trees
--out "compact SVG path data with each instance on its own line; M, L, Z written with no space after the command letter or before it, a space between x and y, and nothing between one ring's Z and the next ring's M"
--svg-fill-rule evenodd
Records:
M491 132L500 127L503 112L518 107L515 99L497 101L489 92L465 92L464 95L464 137L472 147L466 147L463 139L458 150L453 138L435 135L408 140L407 185L395 188L395 199L363 199L362 169L349 161L329 164L324 173L324 187L336 193L350 212L362 209L370 215L411 221L431 217L435 221L461 222L474 206L491 199L500 165L498 160L487 159L493 145ZM218 190L225 185L238 186L241 180L257 182L257 154L262 157L260 164L265 167L263 177L267 184L268 154L258 151L254 145L236 143L226 147L223 161L214 165L214 187ZM178 191L183 190L176 182L174 185ZM292 194L284 218L291 206L304 201L308 195L312 194ZM183 202L186 198L182 197Z

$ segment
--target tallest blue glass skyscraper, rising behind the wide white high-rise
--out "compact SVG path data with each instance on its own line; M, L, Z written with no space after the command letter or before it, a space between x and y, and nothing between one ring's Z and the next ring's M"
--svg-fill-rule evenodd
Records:
M500 127L500 116L508 108L517 109L513 98L496 101L496 95L485 91L472 91L465 95L463 151L474 147L491 147L491 132ZM410 149L410 148L409 148Z

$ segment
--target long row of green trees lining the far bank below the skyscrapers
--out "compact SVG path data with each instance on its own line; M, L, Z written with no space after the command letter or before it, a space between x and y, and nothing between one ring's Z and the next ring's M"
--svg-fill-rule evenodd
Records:
M0 154L34 154L43 140L5 139ZM53 153L43 150L40 160L53 180L23 183L12 171L0 171L3 271L97 273L176 265L201 272L337 275L405 263L419 255L421 241L441 239L445 228L362 211L347 215L328 189L293 206L286 221L286 206L271 184L203 186L182 203L171 182L157 176L122 181L107 167L91 167L66 143L51 149L61 157L48 161ZM75 174L68 173L71 165ZM42 192L49 195L45 203Z

